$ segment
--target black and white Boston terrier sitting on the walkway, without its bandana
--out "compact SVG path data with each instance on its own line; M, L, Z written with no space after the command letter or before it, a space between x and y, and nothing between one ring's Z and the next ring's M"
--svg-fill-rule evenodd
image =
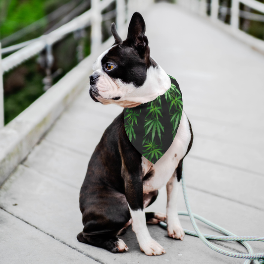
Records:
M150 57L145 22L134 13L127 39L122 41L114 23L112 47L102 53L90 76L90 96L104 105L135 107L155 100L170 88L170 78ZM131 144L124 128L124 111L106 129L88 165L80 192L84 229L80 242L113 253L128 250L117 235L132 223L139 246L146 255L165 250L150 236L146 223L167 222L169 237L183 240L184 231L177 214L182 161L193 141L191 124L183 112L177 134L167 152L155 164ZM167 212L145 213L166 184Z

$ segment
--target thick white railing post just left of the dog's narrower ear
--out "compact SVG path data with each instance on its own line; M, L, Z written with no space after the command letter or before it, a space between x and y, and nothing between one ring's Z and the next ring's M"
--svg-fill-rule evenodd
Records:
M102 30L101 22L102 15L99 8L100 0L91 0L91 10L92 10L92 32L91 32L91 53L98 50L102 43Z

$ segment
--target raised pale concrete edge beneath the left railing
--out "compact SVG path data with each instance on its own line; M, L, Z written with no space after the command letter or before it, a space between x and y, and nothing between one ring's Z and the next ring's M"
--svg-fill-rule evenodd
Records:
M0 186L65 108L88 87L91 65L98 54L108 49L113 42L113 37L109 38L96 54L81 61L32 105L0 129Z

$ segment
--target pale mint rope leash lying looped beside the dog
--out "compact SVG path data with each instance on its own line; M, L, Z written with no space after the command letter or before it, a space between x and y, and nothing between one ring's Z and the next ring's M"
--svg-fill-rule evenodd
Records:
M190 207L190 203L189 203L189 199L187 196L187 192L186 192L186 184L185 184L185 176L184 176L184 171L182 170L182 190L183 190L183 196L184 196L184 201L185 201L185 205L187 208L188 212L184 212L184 211L179 211L178 214L179 215L189 215L190 220L192 222L193 228L195 230L195 232L187 230L187 229L183 229L185 234L191 235L191 236L196 236L199 237L209 248L211 248L212 250L221 253L225 256L229 256L229 257L233 257L233 258L240 258L240 259L247 259L244 264L250 264L251 261L254 261L254 264L264 264L264 253L258 253L258 254L254 254L252 247L245 241L262 241L264 242L264 237L254 237L254 236L237 236L231 232L229 232L228 230L220 227L217 224L212 223L211 221L205 219L204 217L192 213L191 207ZM226 236L215 236L215 235L208 235L208 234L202 234L196 224L195 218L206 223L207 225L211 226L212 228L216 229L217 231L225 234ZM163 227L164 229L167 228L167 224L165 222L160 222L159 225L161 227ZM233 253L233 252L229 252L226 250L222 250L214 245L212 245L211 242L209 242L207 239L212 239L212 240L221 240L221 241L237 241L239 243L241 243L248 251L248 253Z

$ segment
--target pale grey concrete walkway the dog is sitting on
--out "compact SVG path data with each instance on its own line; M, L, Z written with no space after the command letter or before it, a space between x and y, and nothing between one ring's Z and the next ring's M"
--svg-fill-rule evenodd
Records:
M143 16L151 54L177 79L193 126L194 145L185 159L193 212L237 235L264 236L264 56L176 5L155 4ZM121 110L95 103L83 91L5 181L0 263L242 264L198 238L172 240L159 226L149 230L166 249L162 256L141 253L131 228L122 237L129 247L123 254L77 241L79 190L89 158ZM182 193L179 200L179 210L186 211ZM149 211L165 212L165 206L162 188ZM181 222L192 229L188 217ZM235 242L215 244L246 253ZM264 252L261 242L250 244L256 253Z

